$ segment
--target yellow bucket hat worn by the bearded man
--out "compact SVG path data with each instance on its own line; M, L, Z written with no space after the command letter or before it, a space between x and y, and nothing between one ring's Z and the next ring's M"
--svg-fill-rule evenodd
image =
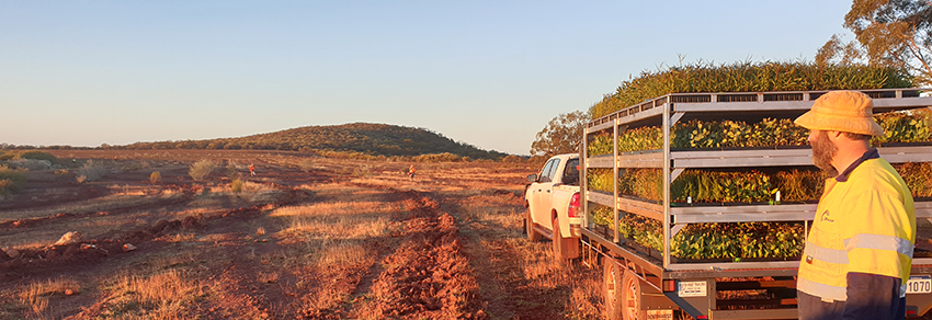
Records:
M830 91L816 99L812 108L794 121L807 129L883 136L874 121L874 101L859 91Z

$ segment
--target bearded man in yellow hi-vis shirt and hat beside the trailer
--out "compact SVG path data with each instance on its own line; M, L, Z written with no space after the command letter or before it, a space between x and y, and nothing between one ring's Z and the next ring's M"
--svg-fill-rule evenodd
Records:
M903 319L916 208L902 178L871 147L874 103L828 92L795 123L811 130L826 181L797 283L799 319Z

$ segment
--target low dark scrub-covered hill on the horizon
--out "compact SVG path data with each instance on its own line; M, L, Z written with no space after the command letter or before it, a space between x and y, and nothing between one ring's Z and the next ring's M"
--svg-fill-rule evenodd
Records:
M353 123L307 126L269 134L208 140L136 142L115 149L251 149L360 152L371 156L453 153L473 159L498 159L507 153L456 142L434 132L396 125Z

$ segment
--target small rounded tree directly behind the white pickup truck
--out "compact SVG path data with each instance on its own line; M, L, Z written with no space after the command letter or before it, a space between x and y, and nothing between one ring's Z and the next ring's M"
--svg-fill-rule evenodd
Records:
M559 153L579 151L582 141L582 128L589 122L589 115L581 111L562 113L537 133L537 138L531 144L531 155L543 155L547 158Z

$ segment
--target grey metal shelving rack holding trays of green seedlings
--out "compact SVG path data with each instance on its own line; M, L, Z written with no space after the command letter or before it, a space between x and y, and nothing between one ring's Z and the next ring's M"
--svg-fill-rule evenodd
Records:
M921 96L928 89L878 89L862 92L874 99L875 113L910 110L932 106L932 96ZM582 174L586 181L587 169L613 169L615 179L614 194L618 194L617 176L624 168L657 168L662 170L663 201L660 204L614 196L588 190L582 184L586 213L591 213L590 204L600 204L613 208L614 237L603 237L587 230L591 228L586 215L584 233L603 241L620 243L617 224L620 212L627 212L663 222L663 252L660 265L649 270L669 273L681 271L749 270L749 268L795 268L798 261L769 261L742 263L673 263L670 256L670 241L673 235L685 224L694 222L747 222L747 221L806 221L811 220L815 204L782 205L736 205L736 206L671 206L670 185L677 176L690 168L754 168L754 167L806 167L812 165L811 149L742 149L742 150L671 150L670 132L673 124L689 118L763 118L798 116L808 111L812 102L828 91L794 92L738 92L738 93L671 93L640 104L626 107L589 123L584 128L582 150L588 150L589 135L610 132L613 139L613 155L583 157ZM637 152L618 152L618 135L628 127L661 126L663 148ZM932 147L882 147L880 156L890 163L932 160ZM932 202L917 202L917 217L932 218ZM674 227L669 227L674 226ZM588 232L587 232L588 231ZM614 238L614 239L607 239ZM616 245L618 247L618 245ZM625 250L613 248L613 250ZM635 258L633 252L621 252ZM648 263L649 260L641 259ZM925 261L928 260L928 261ZM932 259L917 259L923 264L932 264ZM777 272L783 273L783 272ZM658 274L658 276L663 277Z

